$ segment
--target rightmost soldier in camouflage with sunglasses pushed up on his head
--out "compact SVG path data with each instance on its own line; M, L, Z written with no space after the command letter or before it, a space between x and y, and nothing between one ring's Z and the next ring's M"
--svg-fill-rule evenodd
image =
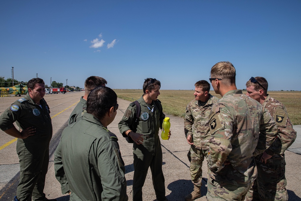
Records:
M285 179L284 151L296 139L285 106L267 94L268 82L264 77L251 77L246 83L247 96L260 102L278 126L278 138L263 153L255 157L258 177L251 190L247 193L246 200L288 200Z

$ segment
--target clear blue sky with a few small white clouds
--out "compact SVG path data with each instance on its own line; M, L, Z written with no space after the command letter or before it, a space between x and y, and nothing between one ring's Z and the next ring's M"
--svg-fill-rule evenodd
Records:
M192 90L230 61L237 88L301 90L301 1L1 1L0 76L113 89Z

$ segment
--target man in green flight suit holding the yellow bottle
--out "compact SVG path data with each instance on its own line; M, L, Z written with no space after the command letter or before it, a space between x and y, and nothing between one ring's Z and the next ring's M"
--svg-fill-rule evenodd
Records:
M165 118L161 102L157 99L160 95L160 87L161 83L159 80L152 78L145 79L143 95L138 99L141 113L135 132L130 128L136 117L136 105L134 102L126 109L123 118L118 124L119 131L123 137L129 136L134 141L133 201L142 201L142 187L149 167L152 172L156 200L167 200L162 171L162 149L158 135Z

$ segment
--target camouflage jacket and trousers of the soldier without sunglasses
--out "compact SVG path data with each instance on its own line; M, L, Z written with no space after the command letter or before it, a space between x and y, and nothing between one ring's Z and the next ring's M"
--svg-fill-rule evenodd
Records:
M218 100L218 98L209 94L207 102L192 100L186 108L184 117L185 136L187 139L187 136L191 135L194 142L187 156L190 162L191 181L198 187L202 185L202 164L209 150L208 118L212 105Z

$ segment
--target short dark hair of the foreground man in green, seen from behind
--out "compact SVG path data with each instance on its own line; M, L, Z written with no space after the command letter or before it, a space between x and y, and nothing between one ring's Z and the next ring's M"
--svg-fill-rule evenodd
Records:
M109 109L117 104L116 93L107 86L97 86L87 98L87 113L103 119ZM114 108L115 110L115 108Z

